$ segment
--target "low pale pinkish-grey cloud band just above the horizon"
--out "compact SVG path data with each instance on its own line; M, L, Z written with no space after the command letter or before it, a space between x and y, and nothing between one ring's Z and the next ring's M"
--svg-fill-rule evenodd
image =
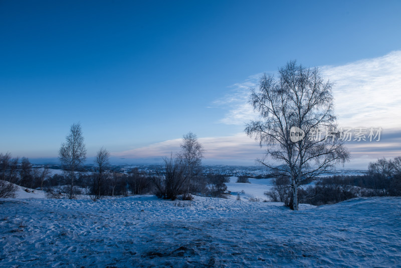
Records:
M265 150L259 143L249 138L245 133L227 137L199 138L198 141L205 148L205 160L207 164L226 165L253 165L257 158L263 158ZM154 143L141 148L113 153L114 158L124 158L121 161L160 163L162 157L175 155L179 151L181 139L173 139L160 143ZM394 158L401 156L401 130L383 130L379 142L346 142L351 152L351 162L345 168L366 169L367 164L378 158Z

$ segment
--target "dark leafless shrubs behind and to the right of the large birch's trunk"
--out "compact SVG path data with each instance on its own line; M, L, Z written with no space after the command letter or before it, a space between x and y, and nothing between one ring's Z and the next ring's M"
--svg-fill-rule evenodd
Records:
M284 202L291 207L293 196L289 178L277 177L273 184L273 189L265 195L272 201ZM401 157L393 160L382 158L369 163L366 175L320 178L314 186L303 186L298 190L298 202L312 205L372 196L401 196Z

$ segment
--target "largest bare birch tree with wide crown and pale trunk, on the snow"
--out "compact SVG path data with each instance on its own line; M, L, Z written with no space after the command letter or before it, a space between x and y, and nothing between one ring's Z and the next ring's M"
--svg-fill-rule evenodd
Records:
M257 161L289 176L293 209L298 210L298 186L348 161L349 153L339 139L340 132L334 131L333 83L324 81L318 68L305 68L295 61L278 72L278 78L264 74L259 88L251 89L250 103L260 119L249 122L245 131L261 147L266 146L266 157ZM303 130L304 139L291 141L294 126ZM333 132L306 138L325 129ZM267 158L281 165L269 164Z

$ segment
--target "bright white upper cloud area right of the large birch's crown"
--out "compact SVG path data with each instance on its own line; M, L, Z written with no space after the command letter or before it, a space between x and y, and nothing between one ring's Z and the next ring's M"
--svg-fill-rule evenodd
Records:
M323 66L335 81L334 98L340 125L401 127L401 51L342 66Z

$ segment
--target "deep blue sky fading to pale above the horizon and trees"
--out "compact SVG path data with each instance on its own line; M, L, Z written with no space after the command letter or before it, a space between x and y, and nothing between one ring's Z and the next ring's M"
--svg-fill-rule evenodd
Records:
M158 159L192 131L210 163L253 164L248 87L292 59L339 81L340 123L376 126L390 107L397 139L399 14L399 1L0 1L0 152L57 157L80 121L89 157ZM354 166L401 154L350 149Z

